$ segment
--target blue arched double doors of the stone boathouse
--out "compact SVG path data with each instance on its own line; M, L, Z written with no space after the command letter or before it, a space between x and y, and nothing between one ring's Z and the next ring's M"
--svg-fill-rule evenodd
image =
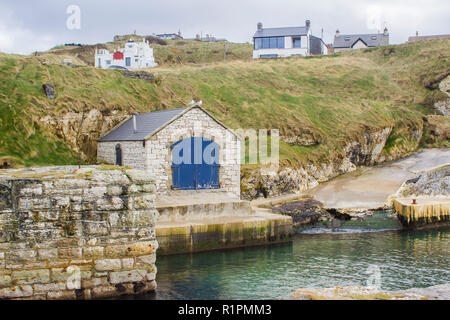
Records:
M172 189L218 189L219 145L204 138L187 138L172 149Z

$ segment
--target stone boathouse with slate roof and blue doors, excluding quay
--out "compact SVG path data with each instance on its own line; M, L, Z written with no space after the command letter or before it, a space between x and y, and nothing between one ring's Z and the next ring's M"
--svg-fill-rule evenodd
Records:
M150 172L157 194L208 190L239 197L240 140L193 104L129 116L98 140L97 160Z

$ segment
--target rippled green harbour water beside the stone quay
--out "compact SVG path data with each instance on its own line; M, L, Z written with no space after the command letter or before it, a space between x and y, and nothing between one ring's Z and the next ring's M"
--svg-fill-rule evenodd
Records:
M450 282L450 229L316 231L282 245L158 257L157 293L146 298L278 299L298 288L365 286L371 265L384 290Z

